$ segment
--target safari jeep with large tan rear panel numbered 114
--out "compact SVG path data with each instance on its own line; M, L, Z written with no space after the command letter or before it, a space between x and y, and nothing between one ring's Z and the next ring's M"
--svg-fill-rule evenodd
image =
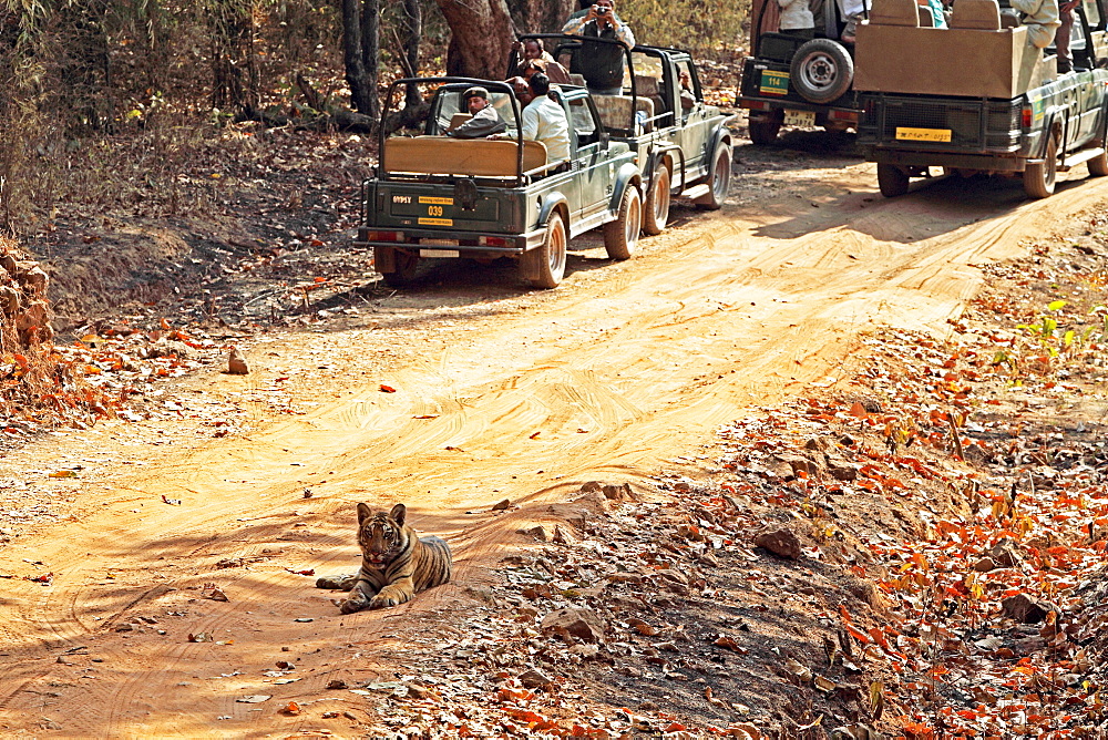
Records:
M906 193L929 167L1022 177L1035 198L1081 163L1108 175L1102 3L1078 6L1074 71L1059 74L1054 49L1030 45L996 0L957 0L948 29L917 28L914 0L874 0L858 30L854 86L858 140L882 195Z

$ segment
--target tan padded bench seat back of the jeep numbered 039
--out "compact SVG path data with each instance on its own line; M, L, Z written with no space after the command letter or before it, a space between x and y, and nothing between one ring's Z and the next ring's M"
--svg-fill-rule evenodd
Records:
M515 177L519 143L505 138L394 136L384 141L382 160L387 172ZM545 165L546 145L542 142L523 142L523 172Z

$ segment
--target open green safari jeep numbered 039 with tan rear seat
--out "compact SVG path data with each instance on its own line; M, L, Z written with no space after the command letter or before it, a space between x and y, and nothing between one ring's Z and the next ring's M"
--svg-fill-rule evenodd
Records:
M609 257L632 256L643 217L635 154L604 132L585 89L556 92L570 121L570 158L551 162L545 145L523 141L520 103L506 83L409 78L393 82L386 100L403 101L404 85L430 97L429 114L414 136L389 135L382 117L380 163L362 183L356 241L373 248L388 285L409 284L425 259L511 257L525 280L553 288L570 239L597 227ZM445 135L468 117L462 93L473 85L489 91L507 123L503 137Z

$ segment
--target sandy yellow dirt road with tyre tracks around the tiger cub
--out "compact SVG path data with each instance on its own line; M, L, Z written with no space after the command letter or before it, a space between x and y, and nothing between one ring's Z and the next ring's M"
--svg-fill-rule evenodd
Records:
M486 287L506 271L437 268L381 291L361 326L255 342L253 374L175 390L176 420L109 423L2 461L0 477L59 521L0 549L0 731L311 727L277 709L342 671L391 675L378 657L397 625L472 598L543 505L589 480L634 485L746 410L830 386L875 325L944 333L976 265L1108 197L1108 181L1035 203L1010 183L942 181L883 201L856 161L737 154L732 205L677 212L629 263L586 250L548 294ZM50 477L76 466L76 483ZM502 499L521 508L493 516ZM452 543L455 583L340 616L295 572L353 566L358 501L406 502L417 528ZM204 598L206 583L229 600ZM199 634L211 641L188 641ZM283 659L300 680L265 676ZM236 701L256 695L273 699Z

